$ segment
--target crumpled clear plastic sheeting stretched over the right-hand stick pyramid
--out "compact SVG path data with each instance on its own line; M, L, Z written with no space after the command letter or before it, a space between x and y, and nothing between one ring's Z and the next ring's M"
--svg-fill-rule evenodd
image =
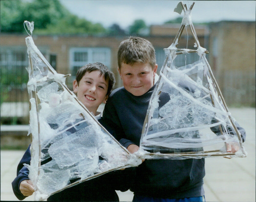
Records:
M239 140L202 54L193 64L177 67L175 49L170 49L165 49L167 61L149 102L137 155L187 159L227 154L225 143L239 146ZM240 147L228 157L244 153Z

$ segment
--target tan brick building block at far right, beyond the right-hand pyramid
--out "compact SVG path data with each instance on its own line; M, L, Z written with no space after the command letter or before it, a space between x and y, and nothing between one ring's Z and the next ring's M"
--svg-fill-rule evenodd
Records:
M226 102L255 107L255 21L220 21L209 30L209 64Z

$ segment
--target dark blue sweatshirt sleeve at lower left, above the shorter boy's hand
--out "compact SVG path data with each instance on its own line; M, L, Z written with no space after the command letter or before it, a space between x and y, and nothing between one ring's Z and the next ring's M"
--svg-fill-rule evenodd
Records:
M12 181L12 190L15 196L19 200L23 200L26 198L26 196L23 196L23 194L20 192L20 183L23 180L29 180L28 178L28 168L26 168L23 164L30 164L31 160L31 154L30 154L30 145L28 146L28 149L24 153L22 159L20 160L18 167L17 167L17 177Z

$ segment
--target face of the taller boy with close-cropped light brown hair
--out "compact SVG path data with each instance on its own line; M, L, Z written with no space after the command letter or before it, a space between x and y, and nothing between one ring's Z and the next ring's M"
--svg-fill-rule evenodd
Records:
M157 64L153 70L148 63L134 63L133 65L122 63L118 68L124 88L135 96L140 96L148 92L154 85Z

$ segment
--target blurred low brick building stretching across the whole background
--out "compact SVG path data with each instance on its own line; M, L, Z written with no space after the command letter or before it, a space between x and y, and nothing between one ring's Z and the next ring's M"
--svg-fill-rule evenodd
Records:
M156 49L158 71L165 55L164 48L171 45L180 24L154 25L149 34L142 36ZM195 25L196 34L202 47L209 50L207 59L223 96L230 105L255 106L255 22L221 21L207 25ZM27 35L1 33L1 118L6 113L18 109L3 107L2 102L27 102L26 83L15 84L15 80L28 78L25 67L28 67ZM38 49L43 53L58 73L72 76L67 78L67 85L75 78L76 70L87 63L102 62L116 75L116 86L122 86L117 71L117 50L125 37L87 36L87 35L33 35ZM188 49L193 47L194 40L189 28L184 29L179 46ZM189 54L188 54L189 55ZM3 75L7 73L7 80ZM5 83L8 85L5 85ZM19 107L20 108L20 107ZM25 104L24 108L27 108ZM6 113L2 113L2 112ZM27 110L28 111L28 110ZM25 115L24 115L25 116ZM28 113L27 113L28 116Z

